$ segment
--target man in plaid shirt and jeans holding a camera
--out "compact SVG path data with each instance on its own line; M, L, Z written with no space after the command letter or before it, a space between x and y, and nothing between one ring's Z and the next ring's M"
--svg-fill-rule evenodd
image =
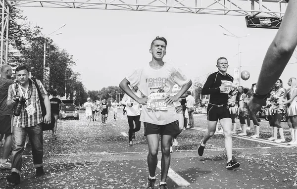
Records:
M44 174L43 170L43 130L42 123L49 124L50 102L48 92L43 84L36 80L47 110L46 116L42 117L41 100L34 81L29 79L29 69L26 66L18 66L15 69L17 82L9 86L7 107L14 108L13 134L11 153L11 175L6 177L9 183L20 184L22 155L26 136L32 146L33 167L36 175Z

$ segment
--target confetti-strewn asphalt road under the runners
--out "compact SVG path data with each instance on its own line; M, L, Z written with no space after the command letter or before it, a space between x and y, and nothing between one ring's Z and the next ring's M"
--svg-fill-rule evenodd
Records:
M233 135L234 158L241 166L227 170L224 136L216 134L198 156L198 143L207 128L206 116L195 115L196 127L183 131L179 145L171 153L167 179L169 189L297 189L297 147L275 143L269 124L260 123L260 139ZM286 142L291 141L289 128ZM239 128L237 120L237 128ZM99 119L87 126L84 112L80 120L58 122L57 141L44 132L45 175L35 176L31 146L24 150L21 184L6 182L9 170L0 171L0 189L143 189L147 182L147 140L143 125L136 133L133 146L128 146L127 116L119 110L117 120L109 112L107 125ZM159 150L160 151L160 150ZM160 159L160 153L158 159ZM156 186L160 181L160 166L156 170Z

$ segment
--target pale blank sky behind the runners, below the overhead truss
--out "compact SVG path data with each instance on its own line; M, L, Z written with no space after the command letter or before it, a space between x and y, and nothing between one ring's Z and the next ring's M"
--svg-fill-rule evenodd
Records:
M32 26L43 27L44 34L66 24L58 31L63 34L51 39L78 59L73 69L81 73L88 90L118 86L134 68L148 64L150 43L156 36L168 41L164 60L179 66L193 81L204 81L209 72L217 71L216 59L220 56L228 58L228 73L233 76L239 62L238 39L223 35L227 32L219 24L237 36L250 34L240 40L242 71L250 72L249 80L242 85L250 88L277 32L247 28L244 16L21 8ZM297 62L295 57L290 60L293 62ZM296 68L296 63L287 65L281 76L285 88L290 77L297 77Z

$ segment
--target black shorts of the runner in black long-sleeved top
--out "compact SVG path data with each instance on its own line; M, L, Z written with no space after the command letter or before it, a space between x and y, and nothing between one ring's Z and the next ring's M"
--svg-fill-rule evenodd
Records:
M208 104L207 106L207 120L217 121L223 118L231 118L229 107L227 104L217 106Z

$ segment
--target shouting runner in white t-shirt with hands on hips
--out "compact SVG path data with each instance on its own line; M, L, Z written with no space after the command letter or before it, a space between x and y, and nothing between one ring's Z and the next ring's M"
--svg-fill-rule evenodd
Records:
M166 179L170 165L172 136L180 132L173 102L186 93L192 85L192 81L180 69L163 62L166 46L165 38L156 37L150 45L149 52L152 59L149 64L134 70L120 83L120 88L127 95L138 103L144 104L140 121L144 122L145 136L148 140L149 176L146 189L154 189L160 136L162 149L160 189L167 189ZM178 84L181 90L175 96L170 96L174 84ZM138 97L131 91L129 85L137 86L145 97Z

